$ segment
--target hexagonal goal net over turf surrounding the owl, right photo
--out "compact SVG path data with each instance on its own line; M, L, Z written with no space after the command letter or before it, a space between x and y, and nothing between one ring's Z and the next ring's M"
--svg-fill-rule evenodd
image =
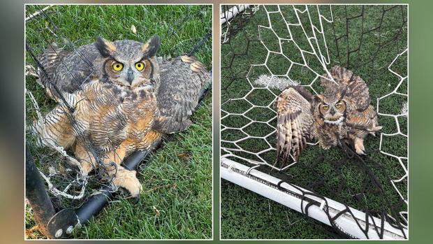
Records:
M236 8L221 7L221 158L406 228L407 6L264 5L233 14ZM333 66L365 80L383 129L365 138L365 156L353 145L323 150L309 141L297 162L281 167L274 100L288 85L320 93Z

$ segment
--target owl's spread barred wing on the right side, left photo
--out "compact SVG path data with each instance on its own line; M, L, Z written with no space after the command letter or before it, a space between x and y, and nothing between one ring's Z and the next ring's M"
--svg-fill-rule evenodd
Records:
M198 103L210 73L196 57L181 56L171 62L158 59L161 76L157 101L161 116L154 129L162 133L182 131L189 127L189 116Z

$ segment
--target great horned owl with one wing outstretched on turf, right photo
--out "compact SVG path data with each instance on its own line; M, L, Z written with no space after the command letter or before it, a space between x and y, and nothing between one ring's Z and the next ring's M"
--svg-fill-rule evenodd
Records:
M339 141L353 142L355 151L362 155L365 136L382 128L364 80L339 66L330 74L335 82L323 75L321 94L313 96L303 87L289 86L274 101L278 113L277 159L282 154L283 164L290 152L298 160L309 138L316 138L323 149Z

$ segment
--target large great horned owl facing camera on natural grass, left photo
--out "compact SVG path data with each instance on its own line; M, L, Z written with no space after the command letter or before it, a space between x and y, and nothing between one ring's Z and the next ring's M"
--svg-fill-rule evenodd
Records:
M34 124L41 143L72 147L86 175L102 165L133 196L141 185L123 159L189 127L210 81L196 57L157 59L159 44L158 36L147 43L98 38L75 52L52 47L39 56L41 82L58 102Z

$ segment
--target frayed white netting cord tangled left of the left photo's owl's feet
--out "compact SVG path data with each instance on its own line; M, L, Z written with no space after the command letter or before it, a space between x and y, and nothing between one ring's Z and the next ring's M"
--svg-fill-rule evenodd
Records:
M36 103L33 94L31 94L31 92L27 89L26 89L26 94L31 99L32 105L34 106L34 109L36 110L36 113L38 115L38 119L41 119L42 118L41 110L39 109L38 103ZM40 168L38 168L41 177L45 180L45 182L47 182L48 192L54 194L54 196L63 196L67 199L82 199L82 197L85 196L85 189L87 187L87 176L82 170L80 162L78 162L77 159L69 156L64 150L64 148L57 145L56 142L47 138L41 138L41 140L43 140L44 143L46 143L47 145L50 145L50 148L54 149L56 152L59 152L59 154L63 157L64 160L70 162L75 166L78 166L78 172L75 172L77 173L76 179L71 181L68 185L66 185L66 187L63 190L57 189L57 187L54 187L54 185L51 182L52 176L58 175L60 173L57 169L50 167L49 169L50 172L46 174L43 171L41 171ZM73 187L74 185L78 185L81 187L80 193L78 195L68 194L67 193L68 190L71 189L71 187Z

